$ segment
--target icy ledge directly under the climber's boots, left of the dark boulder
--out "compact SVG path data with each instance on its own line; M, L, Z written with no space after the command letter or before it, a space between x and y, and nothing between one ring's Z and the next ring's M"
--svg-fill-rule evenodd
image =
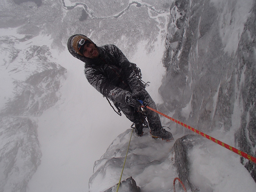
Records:
M128 129L120 134L100 160L95 162L89 180L90 192L105 191L118 183L131 131ZM168 191L172 189L173 179L177 176L173 165L174 142L152 139L149 129L143 131L142 137L138 137L135 132L132 133L122 178L134 178L141 191Z

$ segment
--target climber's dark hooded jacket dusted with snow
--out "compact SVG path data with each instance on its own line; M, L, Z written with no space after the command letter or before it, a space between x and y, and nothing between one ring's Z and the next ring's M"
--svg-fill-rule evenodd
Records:
M68 42L69 52L85 63L84 74L88 82L110 100L125 104L127 94L139 93L144 88L118 47L107 44L97 48L99 57L91 59L77 54Z

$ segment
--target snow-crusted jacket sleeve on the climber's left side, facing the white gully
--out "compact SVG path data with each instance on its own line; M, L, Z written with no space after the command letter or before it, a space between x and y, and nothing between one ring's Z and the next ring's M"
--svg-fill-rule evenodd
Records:
M125 103L125 96L131 92L121 89L110 81L97 69L96 66L84 68L84 74L88 82L102 95L111 99L112 101L117 101L119 103Z

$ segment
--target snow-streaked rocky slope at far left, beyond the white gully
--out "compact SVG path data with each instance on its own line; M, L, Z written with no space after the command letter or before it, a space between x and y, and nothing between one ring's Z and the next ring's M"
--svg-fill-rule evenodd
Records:
M51 61L49 47L26 45L28 41L0 38L1 80L7 86L0 108L1 192L26 191L42 156L36 117L59 100L57 92L65 80L66 69Z

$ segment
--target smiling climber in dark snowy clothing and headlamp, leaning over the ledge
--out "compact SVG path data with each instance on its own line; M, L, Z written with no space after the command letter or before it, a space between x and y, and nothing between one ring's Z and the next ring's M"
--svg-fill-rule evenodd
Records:
M156 108L156 104L141 85L121 50L113 44L98 47L88 37L78 34L69 37L68 51L85 63L84 74L88 82L113 101L135 124L136 134L142 136L144 117L138 112L141 107L138 100L143 100L152 108ZM172 133L162 128L157 113L146 109L145 114L153 138L172 139Z

